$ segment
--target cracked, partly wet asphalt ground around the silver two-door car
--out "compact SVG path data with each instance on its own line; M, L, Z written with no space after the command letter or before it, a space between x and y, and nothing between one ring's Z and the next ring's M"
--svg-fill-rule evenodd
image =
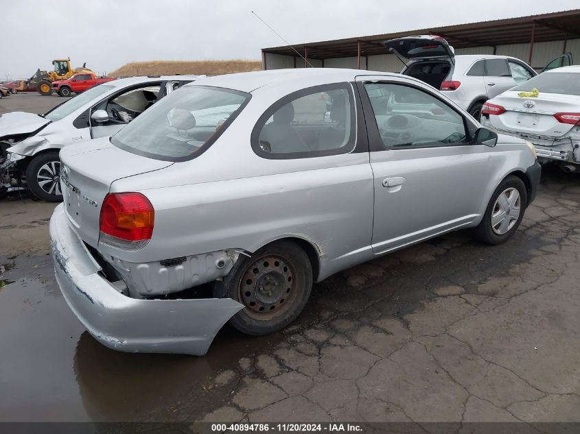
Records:
M315 285L205 357L86 333L48 256L54 204L0 202L0 421L580 422L580 177L544 171L513 239L465 232Z

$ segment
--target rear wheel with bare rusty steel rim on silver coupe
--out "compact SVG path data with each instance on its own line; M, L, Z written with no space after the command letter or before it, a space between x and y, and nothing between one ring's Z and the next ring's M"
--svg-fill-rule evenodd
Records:
M297 319L312 291L312 264L292 241L277 241L240 256L228 276L214 285L214 296L232 298L244 309L229 323L246 335L268 335Z

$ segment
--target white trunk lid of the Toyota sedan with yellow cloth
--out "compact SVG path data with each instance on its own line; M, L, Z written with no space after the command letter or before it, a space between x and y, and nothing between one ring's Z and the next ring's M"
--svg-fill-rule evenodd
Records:
M559 122L554 114L580 111L577 96L541 91L533 98L518 97L517 91L507 91L489 102L506 110L499 115L489 115L494 128L550 138L564 136L575 126Z

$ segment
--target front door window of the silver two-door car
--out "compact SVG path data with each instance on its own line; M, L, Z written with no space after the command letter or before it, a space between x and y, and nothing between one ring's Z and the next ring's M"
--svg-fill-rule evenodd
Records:
M461 114L434 96L402 84L364 84L386 149L467 142Z

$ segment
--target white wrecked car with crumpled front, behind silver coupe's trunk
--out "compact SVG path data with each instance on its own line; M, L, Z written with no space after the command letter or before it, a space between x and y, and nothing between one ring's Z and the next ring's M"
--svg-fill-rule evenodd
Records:
M130 77L100 84L45 114L0 115L0 197L29 189L60 202L58 152L71 143L110 136L194 75Z

